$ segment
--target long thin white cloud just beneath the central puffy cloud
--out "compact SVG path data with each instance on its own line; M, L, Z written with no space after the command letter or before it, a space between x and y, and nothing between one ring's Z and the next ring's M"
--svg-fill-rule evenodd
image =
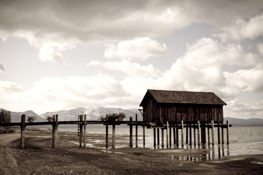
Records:
M108 61L102 63L102 66L109 70L120 70L128 76L158 77L161 75L161 71L154 68L152 64L140 65L139 63L130 62L128 60L122 60L120 62Z

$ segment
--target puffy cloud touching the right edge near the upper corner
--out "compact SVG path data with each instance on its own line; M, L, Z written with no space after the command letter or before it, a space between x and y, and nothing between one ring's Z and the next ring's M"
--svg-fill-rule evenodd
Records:
M258 15L249 17L248 19L239 18L234 24L223 27L223 32L215 34L223 41L253 39L263 36L263 12Z

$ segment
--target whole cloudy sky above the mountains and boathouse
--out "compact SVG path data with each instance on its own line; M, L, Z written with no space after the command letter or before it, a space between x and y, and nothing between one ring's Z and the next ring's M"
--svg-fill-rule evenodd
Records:
M147 89L263 118L263 1L0 0L0 107L139 108Z

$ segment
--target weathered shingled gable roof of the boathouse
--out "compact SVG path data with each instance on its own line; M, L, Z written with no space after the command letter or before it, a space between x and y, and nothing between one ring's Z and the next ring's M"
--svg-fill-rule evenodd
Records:
M145 96L151 94L158 103L194 103L194 104L222 104L226 103L213 92L174 91L148 89ZM145 98L144 96L144 98ZM143 100L140 106L143 104Z

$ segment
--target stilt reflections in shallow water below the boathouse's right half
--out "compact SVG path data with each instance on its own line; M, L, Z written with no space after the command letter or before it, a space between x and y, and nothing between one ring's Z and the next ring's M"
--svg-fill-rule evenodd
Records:
M197 148L196 146L187 146L186 148ZM229 145L220 145L217 144L212 145L202 145L201 147L198 146L198 149L209 149L209 152L206 154L201 155L188 155L188 156L180 156L180 155L170 155L171 159L178 159L178 160L189 160L189 161L204 161L204 160L213 160L213 159L219 159L225 156L225 149L227 152L227 155L229 155Z

